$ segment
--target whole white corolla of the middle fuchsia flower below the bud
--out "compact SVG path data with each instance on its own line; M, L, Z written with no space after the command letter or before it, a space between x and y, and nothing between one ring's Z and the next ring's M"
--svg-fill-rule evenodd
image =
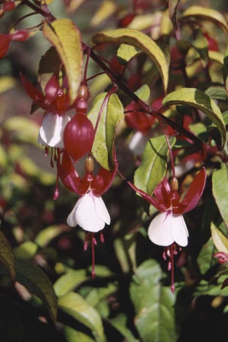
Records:
M77 224L85 231L97 233L105 223L110 224L110 215L101 196L88 192L81 196L72 212L67 217L67 224L75 227Z

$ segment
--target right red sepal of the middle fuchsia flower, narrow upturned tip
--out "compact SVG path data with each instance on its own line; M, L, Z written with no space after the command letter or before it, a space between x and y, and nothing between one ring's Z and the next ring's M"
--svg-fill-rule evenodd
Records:
M115 150L113 150L114 170L108 171L104 168L100 168L95 177L95 181L92 183L93 192L95 195L100 196L106 192L113 183L114 176L116 174L118 163L116 161Z

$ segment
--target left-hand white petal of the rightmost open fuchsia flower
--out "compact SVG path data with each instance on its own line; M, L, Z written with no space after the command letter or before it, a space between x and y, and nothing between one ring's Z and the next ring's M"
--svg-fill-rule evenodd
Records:
M148 235L150 240L159 246L170 246L174 239L171 236L172 213L157 214L151 221Z

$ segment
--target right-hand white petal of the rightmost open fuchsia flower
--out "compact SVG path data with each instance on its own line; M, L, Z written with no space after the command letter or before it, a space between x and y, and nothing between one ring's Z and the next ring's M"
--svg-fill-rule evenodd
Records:
M179 246L185 247L188 245L189 232L182 215L172 214L171 236Z

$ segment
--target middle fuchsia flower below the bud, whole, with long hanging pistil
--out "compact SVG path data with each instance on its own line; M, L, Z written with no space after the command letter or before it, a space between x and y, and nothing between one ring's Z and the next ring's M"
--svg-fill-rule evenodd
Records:
M88 157L85 163L85 175L80 178L66 151L63 152L61 163L57 160L57 171L62 183L68 190L80 195L75 207L68 215L67 223L71 227L79 225L86 232L84 250L87 249L87 241L91 239L93 278L95 277L94 245L96 245L94 233L101 231L105 223L110 224L110 215L101 195L109 189L114 180L118 167L115 155L114 163L113 171L101 167L95 176L93 158ZM100 233L100 240L104 241L102 233Z

